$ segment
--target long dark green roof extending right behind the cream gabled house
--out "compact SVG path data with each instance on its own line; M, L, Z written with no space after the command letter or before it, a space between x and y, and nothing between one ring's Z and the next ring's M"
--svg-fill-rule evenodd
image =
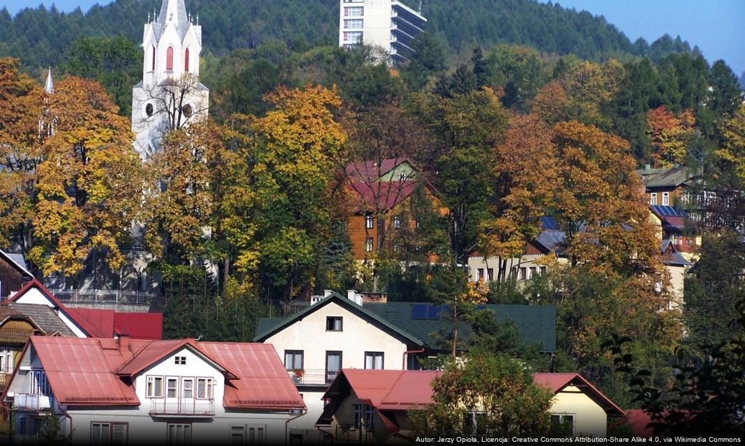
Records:
M425 345L437 348L440 340L436 334L443 329L442 320L415 319L413 302L366 303L364 308L375 311L388 319L394 325L406 327L406 330L424 340ZM494 311L499 320L510 319L514 322L522 340L528 344L541 344L542 351L556 351L556 308L542 305L484 305L484 308ZM465 328L465 329L463 329ZM468 330L459 328L461 339L466 341Z

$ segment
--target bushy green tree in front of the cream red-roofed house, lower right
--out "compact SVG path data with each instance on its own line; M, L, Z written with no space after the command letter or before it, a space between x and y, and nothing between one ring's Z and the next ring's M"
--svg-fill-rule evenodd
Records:
M431 383L432 404L408 412L417 435L538 436L551 430L551 391L505 355L451 359Z

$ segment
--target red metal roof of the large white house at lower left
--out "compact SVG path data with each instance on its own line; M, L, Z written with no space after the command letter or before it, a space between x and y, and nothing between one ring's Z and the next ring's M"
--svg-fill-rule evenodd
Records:
M305 407L272 345L197 343L190 339L127 339L120 344L111 338L72 337L31 337L31 345L60 404L137 406L140 401L134 380L129 378L165 355L186 347L226 370L224 407L256 410Z

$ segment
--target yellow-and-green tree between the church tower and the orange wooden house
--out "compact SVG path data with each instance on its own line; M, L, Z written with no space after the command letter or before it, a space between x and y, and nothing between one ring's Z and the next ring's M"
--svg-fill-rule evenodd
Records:
M280 87L266 99L273 109L265 117L235 121L245 162L221 212L237 272L289 300L314 286L336 212L332 180L346 133L333 115L340 106L334 90Z

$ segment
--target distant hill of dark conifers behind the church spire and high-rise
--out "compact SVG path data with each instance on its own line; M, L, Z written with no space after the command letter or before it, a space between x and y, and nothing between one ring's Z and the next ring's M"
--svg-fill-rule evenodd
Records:
M408 3L419 6L418 1ZM27 68L55 66L80 34L121 34L139 42L148 12L160 4L161 0L115 0L87 13L39 7L14 17L1 10L0 57L19 57ZM335 45L338 4L338 0L187 0L188 9L199 13L206 48L216 54L255 47L267 39ZM671 52L691 51L688 42L670 36L651 45L641 39L631 42L602 16L533 0L424 0L422 12L429 19L429 31L451 48L472 41L486 47L511 43L584 59L631 53L653 61Z

